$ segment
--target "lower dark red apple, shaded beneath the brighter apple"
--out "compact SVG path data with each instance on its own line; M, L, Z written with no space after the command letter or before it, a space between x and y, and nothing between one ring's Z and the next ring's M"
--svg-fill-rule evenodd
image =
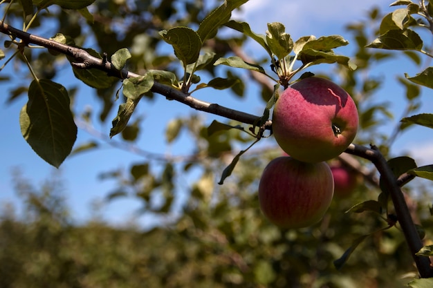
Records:
M278 227L308 227L322 219L331 204L333 189L331 169L326 162L277 157L261 175L260 209Z

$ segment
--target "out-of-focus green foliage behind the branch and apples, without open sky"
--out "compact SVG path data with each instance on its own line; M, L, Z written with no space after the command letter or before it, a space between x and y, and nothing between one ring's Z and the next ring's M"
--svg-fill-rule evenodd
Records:
M200 0L99 0L89 8L92 17L82 17L83 11L53 6L41 12L44 17L36 18L32 28L36 32L52 32L53 36L61 32L75 44L89 44L107 55L128 47L131 59L127 68L139 74L149 69L179 73L181 66L174 61L172 50L167 51L167 46L162 45L158 32L173 26L197 28L219 3L210 6L208 1ZM432 10L430 3L429 8ZM19 5L12 3L9 23L19 23L21 15ZM380 129L393 121L394 116L387 103L378 97L384 77L374 74L374 69L385 61L398 59L402 53L365 47L380 35L384 16L380 9L374 8L365 21L347 26L354 49L351 61L358 69L332 66L332 73L328 70L323 75L332 75L333 81L345 88L358 104L360 133L356 143L377 144L391 157L392 143L407 126L397 123L394 131L386 133ZM208 40L204 49L215 53L212 59L215 61L232 55L233 48L241 48L243 44L248 41L239 35L216 37ZM35 49L25 50L24 55L41 78L55 79L68 66L61 55ZM421 57L414 51L403 55L414 65L422 66ZM15 58L17 67L23 64L23 59ZM213 65L206 66L202 73L206 77L221 77ZM233 69L224 73L236 79L237 84L230 86L234 97L247 97L245 85L238 80L250 75ZM30 79L30 75L21 78ZM419 87L403 77L397 84L406 101L405 115L411 115L421 105ZM264 100L269 99L268 86L258 85ZM119 86L120 83L95 89L100 101L96 121L107 122ZM8 102L22 97L26 87L17 84L10 91ZM74 97L81 97L79 88L68 90L72 102ZM151 107L154 95L146 93L145 97ZM74 103L72 106L77 119L92 125L95 120L91 111L77 111ZM223 169L237 151L255 138L242 129L208 133L210 123L196 113L169 118L165 128L167 144L176 144L176 140L188 135L194 143L188 155L140 154L137 140L145 126L144 117L135 117L117 136L123 141L113 142L119 141L120 148L133 147L131 151L145 157L137 157L136 162L127 164L127 169L107 169L100 174L101 180L115 180L113 189L107 192L107 202L135 198L142 203L140 212L153 215L161 224L144 230L133 225L110 227L98 218L76 224L68 213L64 187L58 177L35 188L17 174L16 191L24 203L24 215L15 213L11 207L3 209L0 287L403 287L416 277L398 224L380 231L388 226L386 214L392 214L392 209L380 215L371 211L345 213L358 202L377 200L378 186L367 181L360 183L350 198L335 198L320 223L307 229L281 231L261 215L257 200L259 175L273 157L282 153L279 148L261 143L255 146L241 157L232 175L219 186L216 183ZM98 149L98 143L104 139L97 138L75 151ZM137 145L125 146L129 144ZM371 169L371 175L377 176L371 164L360 162L367 170ZM405 190L409 208L416 222L423 225L425 239L432 239L432 218L425 206L431 198L422 186L416 189L416 195L410 188ZM333 261L367 235L342 269L335 269ZM431 244L429 240L425 242Z

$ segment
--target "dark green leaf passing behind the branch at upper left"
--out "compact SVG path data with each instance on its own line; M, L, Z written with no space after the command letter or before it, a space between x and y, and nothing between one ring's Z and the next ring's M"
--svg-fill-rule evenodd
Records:
M98 57L102 59L101 55L93 49L84 49L89 52L93 57ZM68 60L73 63L75 59L72 57L68 57ZM83 69L72 66L73 73L77 79L83 81L86 85L91 86L92 88L103 89L109 88L113 86L114 83L119 81L116 77L110 77L102 70L91 68L91 69Z

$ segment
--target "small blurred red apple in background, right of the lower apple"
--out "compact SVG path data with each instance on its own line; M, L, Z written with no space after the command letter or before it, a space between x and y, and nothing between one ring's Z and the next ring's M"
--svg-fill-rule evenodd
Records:
M334 178L334 195L347 198L358 184L358 175L342 164L329 164Z

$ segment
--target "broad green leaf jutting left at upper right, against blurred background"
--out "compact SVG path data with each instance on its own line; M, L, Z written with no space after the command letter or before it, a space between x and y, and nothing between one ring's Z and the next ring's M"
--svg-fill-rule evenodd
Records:
M412 30L389 30L367 45L367 48L421 50L423 48L423 40Z

